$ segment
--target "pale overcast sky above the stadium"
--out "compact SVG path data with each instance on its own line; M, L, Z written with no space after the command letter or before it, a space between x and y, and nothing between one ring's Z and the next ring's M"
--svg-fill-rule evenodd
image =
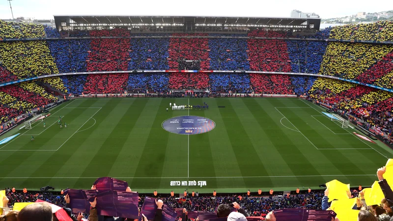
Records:
M11 0L14 17L53 19L54 15L185 15L289 17L294 9L322 19L358 12L393 10L392 0ZM0 19L12 19L8 0L0 0Z

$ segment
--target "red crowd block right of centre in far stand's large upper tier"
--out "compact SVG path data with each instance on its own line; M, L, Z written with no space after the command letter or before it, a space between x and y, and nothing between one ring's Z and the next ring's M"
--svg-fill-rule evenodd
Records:
M284 32L253 30L250 37L285 37ZM253 71L290 72L291 65L285 40L248 39L248 57Z

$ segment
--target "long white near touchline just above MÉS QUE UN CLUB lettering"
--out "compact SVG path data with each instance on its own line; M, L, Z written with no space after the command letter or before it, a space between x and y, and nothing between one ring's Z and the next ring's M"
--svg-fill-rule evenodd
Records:
M319 176L376 176L375 174L349 174L349 175L292 175L292 176L210 176L210 177L114 177L117 179L196 179L196 178L211 178L211 179L228 179L228 178L285 178L285 177L319 177ZM97 177L2 177L1 179L97 179Z

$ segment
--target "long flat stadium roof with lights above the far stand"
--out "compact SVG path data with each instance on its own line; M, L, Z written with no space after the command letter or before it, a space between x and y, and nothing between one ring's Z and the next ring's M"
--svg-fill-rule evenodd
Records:
M129 16L55 15L56 28L132 26L215 26L319 29L320 18L222 17L222 16Z

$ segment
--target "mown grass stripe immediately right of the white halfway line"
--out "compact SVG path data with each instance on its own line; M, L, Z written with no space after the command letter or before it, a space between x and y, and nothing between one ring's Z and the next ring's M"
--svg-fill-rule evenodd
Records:
M202 105L202 99L190 99L191 105ZM206 101L205 101L206 102ZM210 106L211 107L211 106ZM213 107L212 107L213 108ZM212 109L211 108L211 109ZM214 107L217 108L217 107ZM211 110L190 110L190 115L207 117L205 112ZM213 120L214 121L214 120ZM213 129L215 130L215 129ZM224 131L223 131L224 132ZM190 177L197 177L203 175L205 177L216 177L217 174L214 166L214 158L212 155L212 148L210 144L210 132L197 134L197 135L187 135L190 138ZM193 180L193 179L191 179ZM217 182L215 179L207 184L209 188L217 188Z

